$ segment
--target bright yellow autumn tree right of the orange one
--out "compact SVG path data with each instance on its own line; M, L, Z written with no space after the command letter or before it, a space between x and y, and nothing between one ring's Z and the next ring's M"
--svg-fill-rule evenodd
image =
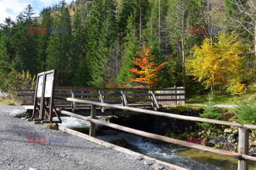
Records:
M246 47L242 40L236 40L234 32L219 33L217 38L212 44L205 38L201 47L193 48L193 58L186 65L188 74L203 82L206 88L219 88L221 92L232 89L231 94L241 94L244 84L240 83L240 75L244 72L242 60Z

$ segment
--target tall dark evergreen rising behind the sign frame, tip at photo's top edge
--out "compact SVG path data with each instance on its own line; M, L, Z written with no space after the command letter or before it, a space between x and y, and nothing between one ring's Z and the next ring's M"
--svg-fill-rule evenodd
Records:
M47 70L57 69L58 86L71 85L71 18L66 2L59 4L58 12L53 18L52 36L46 50L48 53L46 68ZM57 28L57 29L56 29Z

